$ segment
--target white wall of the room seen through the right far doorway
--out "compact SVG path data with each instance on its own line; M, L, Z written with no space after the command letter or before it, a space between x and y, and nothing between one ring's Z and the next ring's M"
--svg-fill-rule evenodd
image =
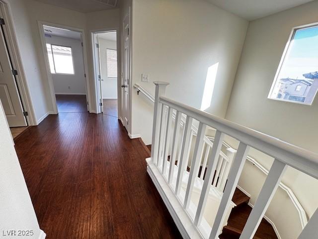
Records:
M117 49L117 42L99 38L100 67L103 99L117 99L117 78L107 77L106 49Z

